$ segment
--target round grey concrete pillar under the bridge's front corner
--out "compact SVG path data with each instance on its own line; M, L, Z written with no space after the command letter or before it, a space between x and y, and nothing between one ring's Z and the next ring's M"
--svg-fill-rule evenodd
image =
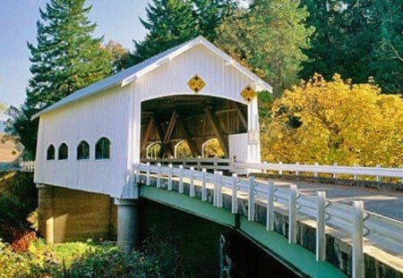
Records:
M137 199L115 198L117 206L117 245L129 253L139 238L139 213Z

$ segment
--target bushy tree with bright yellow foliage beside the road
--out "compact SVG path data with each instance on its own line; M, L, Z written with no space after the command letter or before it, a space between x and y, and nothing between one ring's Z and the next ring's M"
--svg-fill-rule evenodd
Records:
M403 100L369 80L338 74L286 90L262 121L262 156L271 162L399 167L403 164Z

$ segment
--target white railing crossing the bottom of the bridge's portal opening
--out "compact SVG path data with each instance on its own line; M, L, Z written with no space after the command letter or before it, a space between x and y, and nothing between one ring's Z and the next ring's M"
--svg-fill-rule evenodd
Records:
M230 171L232 172L234 169L232 159L227 158L218 158L218 157L211 157L211 158L144 158L141 159L141 163L148 163L150 164L162 164L168 165L173 164L174 166L183 165L184 168L190 169L190 167L194 167L195 170L216 170L216 171Z

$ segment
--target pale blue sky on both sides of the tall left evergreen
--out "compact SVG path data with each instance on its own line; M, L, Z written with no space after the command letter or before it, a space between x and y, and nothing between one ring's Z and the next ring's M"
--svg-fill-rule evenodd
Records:
M144 38L146 30L139 17L145 17L148 0L87 0L89 17L98 24L94 35L105 36L133 49L133 39ZM36 43L39 8L47 0L0 0L0 102L21 105L30 79L30 52L27 41ZM4 115L0 115L4 120Z

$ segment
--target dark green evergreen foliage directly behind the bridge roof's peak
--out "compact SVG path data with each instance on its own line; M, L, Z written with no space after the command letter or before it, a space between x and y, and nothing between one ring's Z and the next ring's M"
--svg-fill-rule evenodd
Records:
M142 41L134 41L135 50L126 67L198 35L215 38L216 27L235 8L234 0L153 0L146 8L147 19L140 19L148 34Z

